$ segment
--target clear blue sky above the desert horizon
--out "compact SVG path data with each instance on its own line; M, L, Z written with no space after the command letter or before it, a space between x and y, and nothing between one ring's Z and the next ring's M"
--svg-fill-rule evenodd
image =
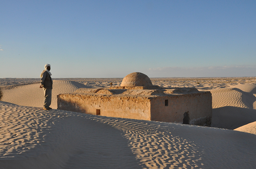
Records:
M256 1L0 2L0 78L256 76Z

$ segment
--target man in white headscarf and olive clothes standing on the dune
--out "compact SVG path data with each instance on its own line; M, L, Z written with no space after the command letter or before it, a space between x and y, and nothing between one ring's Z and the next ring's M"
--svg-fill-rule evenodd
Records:
M52 78L51 78L51 65L46 64L44 70L41 72L41 85L40 88L44 89L44 110L50 110L52 102Z

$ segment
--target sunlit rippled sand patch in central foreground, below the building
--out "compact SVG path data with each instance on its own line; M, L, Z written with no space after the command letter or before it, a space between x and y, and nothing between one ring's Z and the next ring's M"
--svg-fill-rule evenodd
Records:
M144 168L201 168L203 165L200 150L195 143L172 135L175 124L168 126L167 123L164 126L161 122L115 118L96 120L123 131L123 137L129 140L132 152Z

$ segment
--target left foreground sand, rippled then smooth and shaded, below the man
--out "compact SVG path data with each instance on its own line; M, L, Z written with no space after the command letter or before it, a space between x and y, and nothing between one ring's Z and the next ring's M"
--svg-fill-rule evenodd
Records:
M0 102L0 119L4 121L1 125L0 166L136 168L137 161L119 132L92 122L88 117L81 113L57 109L45 111Z

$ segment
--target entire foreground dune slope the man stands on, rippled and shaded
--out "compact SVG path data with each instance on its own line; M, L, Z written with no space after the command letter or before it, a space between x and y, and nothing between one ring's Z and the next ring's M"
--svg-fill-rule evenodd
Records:
M1 168L253 168L256 135L0 102Z

